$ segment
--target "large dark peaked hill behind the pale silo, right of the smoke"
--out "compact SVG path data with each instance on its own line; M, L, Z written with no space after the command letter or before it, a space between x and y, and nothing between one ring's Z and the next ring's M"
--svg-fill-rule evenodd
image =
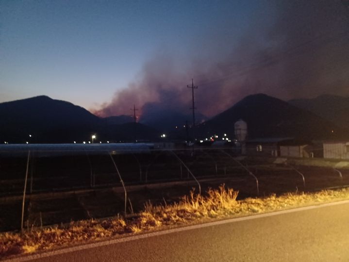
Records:
M201 137L227 133L234 135L234 123L243 119L248 124L249 138L295 137L297 139L338 139L348 131L283 100L264 94L243 98L233 107L199 125ZM332 132L333 131L333 132Z

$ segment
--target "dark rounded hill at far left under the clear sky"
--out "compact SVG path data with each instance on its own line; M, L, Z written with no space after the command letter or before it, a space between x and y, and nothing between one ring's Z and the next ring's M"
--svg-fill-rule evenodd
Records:
M86 109L47 96L0 103L1 136L10 141L70 141L99 124L100 118Z

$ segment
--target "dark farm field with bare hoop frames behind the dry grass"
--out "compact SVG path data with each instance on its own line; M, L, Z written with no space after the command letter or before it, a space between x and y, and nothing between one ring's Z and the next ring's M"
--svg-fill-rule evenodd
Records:
M27 160L25 152L0 157L0 231L20 227ZM25 227L125 215L125 207L130 215L141 211L146 202L166 205L192 188L205 192L223 183L238 190L242 199L348 185L349 170L233 158L227 150L197 150L194 156L191 150L122 155L33 152Z

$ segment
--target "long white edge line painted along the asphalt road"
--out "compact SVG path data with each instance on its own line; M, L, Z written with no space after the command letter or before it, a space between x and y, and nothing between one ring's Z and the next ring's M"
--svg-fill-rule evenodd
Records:
M49 251L49 252L45 252L45 253L41 253L41 254L35 254L35 255L29 255L29 256L23 256L23 257L18 257L18 258L14 258L14 259L4 260L2 262L31 261L34 259L46 258L46 257L51 257L51 256L55 256L55 255L60 255L60 254L66 254L66 253L70 253L70 252L74 252L74 251L95 248L95 247L99 247L99 246L114 245L117 243L123 243L123 242L133 241L133 240L137 240L137 239L154 237L154 236L161 236L161 235L166 235L166 234L175 233L175 232L207 228L207 227L224 225L224 224L234 223L234 222L239 222L239 221L252 220L252 219L257 219L257 218L262 218L262 217L268 217L268 216L274 216L274 215L280 215L280 214L286 214L286 213L294 213L294 212L299 212L299 211L305 211L305 210L323 208L323 207L329 207L329 206L335 206L335 205L342 205L342 204L348 204L348 203L349 203L349 200L342 200L342 201L338 201L338 202L331 202L331 203L325 203L325 204L319 204L319 205L313 205L313 206L287 209L287 210L275 211L275 212L271 212L271 213L263 213L263 214L230 218L230 219L219 220L219 221L215 221L215 222L208 222L205 224L187 226L187 227L183 227L183 228L168 229L168 230L163 230L163 231L145 233L145 234L141 234L141 235L129 236L129 237L119 238L119 239L114 239L114 240L107 240L107 241L86 244L86 245L81 245L81 246L73 246L73 247L58 249L58 250Z

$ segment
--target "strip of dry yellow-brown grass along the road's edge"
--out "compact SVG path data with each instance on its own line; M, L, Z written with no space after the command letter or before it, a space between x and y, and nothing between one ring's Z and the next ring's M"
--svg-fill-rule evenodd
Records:
M147 202L142 213L129 219L116 217L105 220L82 220L71 222L66 226L33 229L22 233L1 233L0 258L67 246L72 243L110 238L125 233L137 233L161 226L271 212L349 198L349 188L244 200L236 200L238 192L226 189L224 185L217 190L209 189L205 195L194 192L192 190L189 196L184 196L181 201L171 205L165 202L165 205L153 206Z

